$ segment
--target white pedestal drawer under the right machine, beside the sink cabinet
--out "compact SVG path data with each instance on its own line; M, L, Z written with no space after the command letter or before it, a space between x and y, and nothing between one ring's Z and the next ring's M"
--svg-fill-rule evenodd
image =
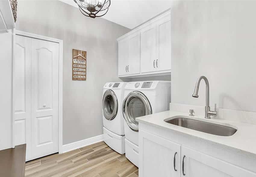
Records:
M125 139L125 157L139 167L139 146Z

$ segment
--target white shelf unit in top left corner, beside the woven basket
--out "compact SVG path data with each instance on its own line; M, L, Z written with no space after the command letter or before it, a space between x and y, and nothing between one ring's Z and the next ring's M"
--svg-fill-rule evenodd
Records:
M15 23L9 0L0 1L0 33L8 32L9 29L14 29Z

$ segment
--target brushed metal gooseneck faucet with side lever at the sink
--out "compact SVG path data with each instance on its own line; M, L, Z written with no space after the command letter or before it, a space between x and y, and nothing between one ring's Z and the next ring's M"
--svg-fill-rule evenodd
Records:
M211 111L210 105L209 105L209 82L208 79L205 76L200 76L195 84L195 90L194 93L192 94L193 97L198 98L198 89L199 89L199 84L200 81L204 79L205 85L206 85L206 106L205 106L205 116L204 118L210 119L210 115L217 116L217 111L216 111L216 104L215 104L215 109L214 111Z

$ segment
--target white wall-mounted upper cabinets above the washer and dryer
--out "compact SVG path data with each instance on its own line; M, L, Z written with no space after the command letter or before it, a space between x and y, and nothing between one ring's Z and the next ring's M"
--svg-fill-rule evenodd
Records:
M170 11L167 11L117 39L119 77L170 75L170 20Z

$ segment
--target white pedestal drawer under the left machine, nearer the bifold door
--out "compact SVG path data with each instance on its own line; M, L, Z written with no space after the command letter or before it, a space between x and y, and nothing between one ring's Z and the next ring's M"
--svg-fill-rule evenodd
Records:
M104 142L119 154L125 153L124 136L117 135L103 127Z

